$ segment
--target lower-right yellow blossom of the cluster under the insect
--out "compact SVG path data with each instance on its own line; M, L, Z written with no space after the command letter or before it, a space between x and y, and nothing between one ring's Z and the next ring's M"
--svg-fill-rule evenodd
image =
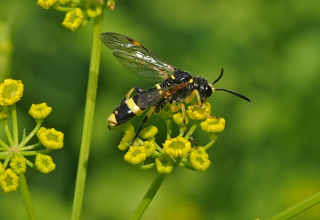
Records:
M197 171L205 171L211 164L208 159L209 155L205 152L203 147L198 147L198 149L192 149L189 154L189 162Z

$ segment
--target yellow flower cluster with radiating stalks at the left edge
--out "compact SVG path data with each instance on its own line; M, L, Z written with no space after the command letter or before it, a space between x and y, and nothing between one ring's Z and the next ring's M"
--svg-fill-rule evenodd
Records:
M55 169L52 157L46 155L53 149L63 147L63 133L54 128L41 127L44 118L52 109L47 104L32 104L29 115L35 118L36 126L28 134L23 134L19 143L16 102L23 94L24 85L21 80L6 79L0 84L0 122L4 126L8 143L0 139L0 187L4 193L17 191L20 175L26 172L27 165L42 173L49 173ZM8 127L9 116L12 118L13 135ZM38 137L38 143L27 145L34 136ZM35 150L44 146L45 149ZM26 156L36 156L35 162L29 161ZM9 167L8 167L9 166Z

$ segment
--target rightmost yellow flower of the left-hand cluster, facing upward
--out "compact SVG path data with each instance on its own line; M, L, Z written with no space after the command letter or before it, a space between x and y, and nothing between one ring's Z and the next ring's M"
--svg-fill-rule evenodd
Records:
M41 127L37 131L37 137L44 147L52 149L60 149L63 147L63 133L56 131L54 128L47 129Z

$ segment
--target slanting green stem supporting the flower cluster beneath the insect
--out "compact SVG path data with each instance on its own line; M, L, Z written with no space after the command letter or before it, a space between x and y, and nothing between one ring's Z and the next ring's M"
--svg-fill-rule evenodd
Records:
M141 218L143 213L148 208L150 202L152 201L153 197L155 196L156 192L158 191L159 187L163 183L166 174L158 173L156 178L153 180L148 192L143 197L142 201L140 202L139 206L133 213L131 220L138 220Z

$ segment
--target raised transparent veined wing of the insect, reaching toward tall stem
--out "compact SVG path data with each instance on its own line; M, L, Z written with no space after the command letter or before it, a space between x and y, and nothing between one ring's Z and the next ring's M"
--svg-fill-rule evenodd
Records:
M150 82L167 79L173 72L178 71L130 37L116 33L102 33L100 40L113 51L113 55L125 68L144 76Z

